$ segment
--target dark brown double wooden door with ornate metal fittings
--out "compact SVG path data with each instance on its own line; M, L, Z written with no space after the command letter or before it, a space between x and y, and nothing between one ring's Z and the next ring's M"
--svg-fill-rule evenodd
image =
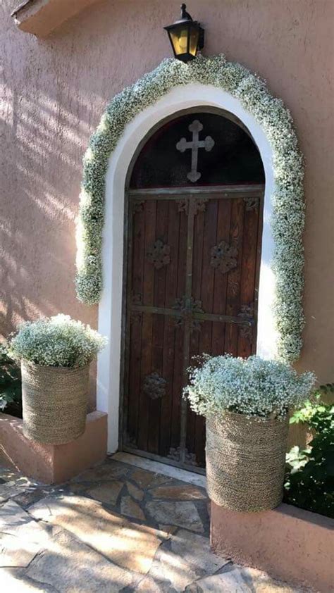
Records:
M128 193L123 450L203 471L205 421L183 387L194 357L255 351L263 193Z

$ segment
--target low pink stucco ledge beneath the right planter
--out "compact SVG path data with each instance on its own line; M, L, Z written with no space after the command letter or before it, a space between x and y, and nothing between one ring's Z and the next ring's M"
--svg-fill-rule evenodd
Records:
M237 513L211 502L211 547L238 564L328 593L334 582L334 520L280 504Z

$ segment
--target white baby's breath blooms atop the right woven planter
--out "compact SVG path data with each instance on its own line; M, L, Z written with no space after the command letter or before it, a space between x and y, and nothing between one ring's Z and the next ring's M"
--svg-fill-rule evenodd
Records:
M206 356L202 366L189 371L184 394L201 416L226 410L264 418L285 416L307 399L316 380L314 373L297 375L287 364L259 356Z

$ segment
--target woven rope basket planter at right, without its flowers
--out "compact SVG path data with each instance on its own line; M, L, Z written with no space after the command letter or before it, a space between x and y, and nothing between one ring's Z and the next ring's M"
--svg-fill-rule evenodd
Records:
M259 420L226 412L206 420L209 497L232 511L275 508L283 498L287 418Z

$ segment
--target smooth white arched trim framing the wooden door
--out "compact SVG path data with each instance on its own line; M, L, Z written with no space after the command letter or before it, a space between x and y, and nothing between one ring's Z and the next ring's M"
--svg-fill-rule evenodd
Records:
M211 85L190 84L174 87L156 104L141 111L125 127L123 135L109 158L106 173L106 205L103 235L103 293L99 303L99 332L109 344L99 355L97 364L97 408L108 413L108 450L118 448L120 403L120 354L123 294L123 233L125 180L137 146L149 130L173 113L201 106L211 106L233 113L247 127L264 164L264 224L262 231L259 277L259 309L256 354L264 358L276 356L278 335L273 318L274 275L271 270L273 237L269 219L271 195L274 190L273 151L259 123L240 101Z

